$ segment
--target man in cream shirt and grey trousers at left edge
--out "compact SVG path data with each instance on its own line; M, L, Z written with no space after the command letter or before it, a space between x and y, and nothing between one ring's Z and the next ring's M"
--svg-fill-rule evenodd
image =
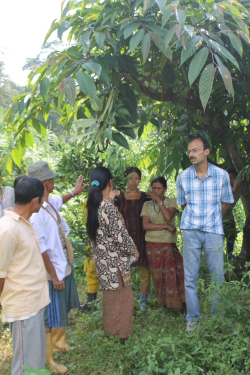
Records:
M2 320L12 333L11 375L22 375L23 364L44 368L44 307L49 303L46 270L29 222L43 203L44 188L33 177L15 187L15 204L0 218L0 302Z

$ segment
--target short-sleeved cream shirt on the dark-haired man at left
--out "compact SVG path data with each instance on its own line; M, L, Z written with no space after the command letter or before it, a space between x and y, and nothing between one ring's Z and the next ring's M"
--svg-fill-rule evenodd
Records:
M46 270L31 224L8 209L0 218L0 296L5 316L23 316L49 303Z

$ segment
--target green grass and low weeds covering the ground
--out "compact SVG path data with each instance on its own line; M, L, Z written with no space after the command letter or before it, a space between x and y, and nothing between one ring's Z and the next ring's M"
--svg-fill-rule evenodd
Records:
M81 277L77 276L77 279L80 300L83 301ZM91 312L81 313L78 310L70 312L67 337L68 343L73 345L74 349L54 355L58 362L68 366L68 374L247 375L250 373L248 289L242 297L239 294L242 285L235 289L237 284L235 286L233 283L231 285L225 283L223 293L229 310L225 309L223 313L210 316L208 291L201 287L199 291L201 319L198 328L192 334L185 334L184 315L157 308L152 286L148 312L144 314L139 311L139 280L136 271L133 272L132 279L133 335L124 345L117 338L107 338L103 334L100 292L95 309ZM235 299L236 294L240 297L238 300L243 302L242 305ZM241 309L237 315L233 306L236 309L239 305ZM231 314L228 311L231 311ZM7 326L3 323L0 323L0 347L0 375L9 375L11 341Z

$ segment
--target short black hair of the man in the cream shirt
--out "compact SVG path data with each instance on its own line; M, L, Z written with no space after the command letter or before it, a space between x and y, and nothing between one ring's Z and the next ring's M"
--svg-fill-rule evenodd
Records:
M41 200L43 194L44 187L41 181L35 177L24 176L16 183L15 203L27 204L36 197Z

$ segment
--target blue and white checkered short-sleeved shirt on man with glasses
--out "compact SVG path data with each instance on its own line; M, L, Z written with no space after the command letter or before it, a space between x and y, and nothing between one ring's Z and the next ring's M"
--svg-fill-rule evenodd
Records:
M228 173L208 163L203 179L194 165L180 172L176 179L177 204L186 203L180 222L181 229L199 229L223 234L221 202L233 203Z

